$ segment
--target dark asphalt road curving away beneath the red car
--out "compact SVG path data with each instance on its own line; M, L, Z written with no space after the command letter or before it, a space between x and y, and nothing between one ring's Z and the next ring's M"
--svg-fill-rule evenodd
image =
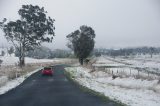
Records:
M53 69L52 77L41 76L39 71L15 89L0 95L0 106L119 106L79 89L65 77L63 66Z

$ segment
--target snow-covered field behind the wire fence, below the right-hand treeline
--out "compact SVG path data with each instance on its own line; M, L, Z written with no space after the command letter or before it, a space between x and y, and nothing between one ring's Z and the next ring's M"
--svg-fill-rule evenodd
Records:
M121 66L121 65L131 65L132 67L140 67L140 68L153 68L153 69L160 69L160 55L149 58L145 56L138 56L138 57L116 57L116 58L111 58L108 56L101 56L97 59L97 62L95 65L101 65L105 66L107 65L116 65L116 66ZM103 64L102 64L103 63Z

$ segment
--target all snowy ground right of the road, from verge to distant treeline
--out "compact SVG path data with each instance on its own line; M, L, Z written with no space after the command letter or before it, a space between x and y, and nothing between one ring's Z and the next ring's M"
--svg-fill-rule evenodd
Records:
M79 84L130 106L160 106L160 57L136 56L111 58L101 56L95 70L67 68ZM116 75L113 79L113 75Z

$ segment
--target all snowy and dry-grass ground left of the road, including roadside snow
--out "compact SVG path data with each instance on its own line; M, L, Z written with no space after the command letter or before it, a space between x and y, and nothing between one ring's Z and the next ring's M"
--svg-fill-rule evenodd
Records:
M23 80L25 80L25 77L30 75L26 75L26 73L32 73L33 70L39 67L51 66L56 64L71 64L77 62L77 60L75 59L67 58L33 59L26 57L26 66L20 68L15 65L18 63L18 57L15 57L14 55L0 56L0 59L3 60L2 66L0 67L0 94L14 88L15 86L18 86L21 82L23 82Z

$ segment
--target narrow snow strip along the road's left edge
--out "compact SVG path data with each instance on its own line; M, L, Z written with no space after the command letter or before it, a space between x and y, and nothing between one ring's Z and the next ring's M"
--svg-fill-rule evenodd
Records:
M21 77L18 77L14 80L8 81L4 86L0 87L0 95L6 93L7 91L17 87L18 85L20 85L26 78L28 78L29 76L31 76L32 74L34 74L35 72L39 71L41 68L32 71L26 75L23 75Z

